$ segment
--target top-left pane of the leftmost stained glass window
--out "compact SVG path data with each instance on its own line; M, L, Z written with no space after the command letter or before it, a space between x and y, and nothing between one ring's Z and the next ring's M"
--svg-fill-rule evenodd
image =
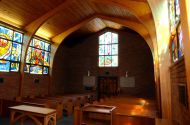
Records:
M8 40L13 39L13 30L0 26L0 37Z

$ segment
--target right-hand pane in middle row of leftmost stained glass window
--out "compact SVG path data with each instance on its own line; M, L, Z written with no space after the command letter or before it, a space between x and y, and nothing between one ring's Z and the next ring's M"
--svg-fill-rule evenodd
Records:
M20 55L21 55L21 44L13 43L11 60L12 61L20 61Z

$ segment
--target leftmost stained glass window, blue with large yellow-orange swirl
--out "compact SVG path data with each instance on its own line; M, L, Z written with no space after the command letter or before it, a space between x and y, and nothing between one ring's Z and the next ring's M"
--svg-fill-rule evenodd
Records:
M18 72L23 34L0 26L0 72Z

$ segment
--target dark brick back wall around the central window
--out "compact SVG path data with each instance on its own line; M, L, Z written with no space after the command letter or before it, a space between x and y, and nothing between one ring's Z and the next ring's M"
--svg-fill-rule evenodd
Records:
M154 97L153 59L143 38L130 30L116 31L119 34L119 67L99 68L98 36L102 32L95 33L80 42L72 41L80 44L67 46L63 43L59 47L53 67L56 92L84 92L82 81L88 70L92 76L102 76L108 71L109 75L118 77L125 76L125 72L128 71L129 77L135 77L136 87L122 88L122 93Z

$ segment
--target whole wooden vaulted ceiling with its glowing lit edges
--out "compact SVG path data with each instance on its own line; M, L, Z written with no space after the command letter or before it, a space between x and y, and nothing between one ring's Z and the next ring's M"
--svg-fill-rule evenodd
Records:
M36 20L53 12L55 13L52 16L43 21L36 35L56 38L85 22L77 28L79 32L97 32L106 27L129 27L143 36L150 47L153 46L151 40L155 36L152 32L154 21L147 0L0 1L0 20L24 30Z

